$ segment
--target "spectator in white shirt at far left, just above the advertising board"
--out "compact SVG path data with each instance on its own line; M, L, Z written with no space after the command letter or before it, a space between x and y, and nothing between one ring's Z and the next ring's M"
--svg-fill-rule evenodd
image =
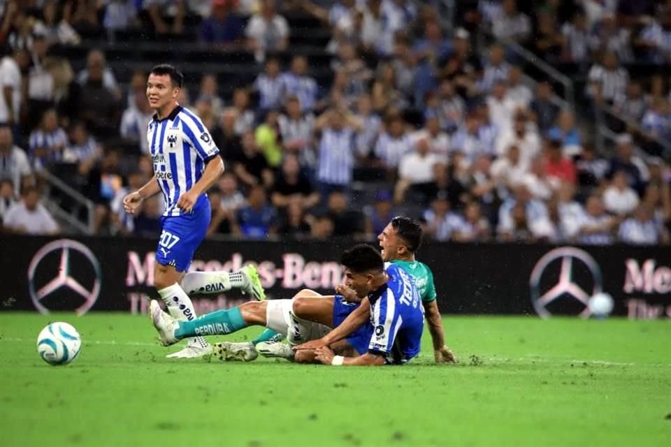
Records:
M55 235L60 231L54 218L40 203L40 193L34 187L22 191L20 203L6 212L3 226L16 234Z

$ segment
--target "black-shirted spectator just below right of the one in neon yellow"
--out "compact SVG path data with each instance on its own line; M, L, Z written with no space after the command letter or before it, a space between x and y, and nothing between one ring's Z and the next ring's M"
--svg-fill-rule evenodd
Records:
M287 154L282 161L282 168L277 173L273 194L270 196L273 206L282 210L289 203L296 201L303 208L309 209L319 203L319 193L315 191L310 179L301 173L298 157Z

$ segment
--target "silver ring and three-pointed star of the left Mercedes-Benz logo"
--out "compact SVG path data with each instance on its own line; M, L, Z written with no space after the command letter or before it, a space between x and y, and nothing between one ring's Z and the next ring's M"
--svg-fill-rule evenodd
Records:
M36 272L38 267L48 255L52 252L60 251L60 263L58 271L53 272L52 279L47 282L47 284L41 286L38 290L36 289ZM77 268L74 265L71 265L71 251L75 251L83 258L87 259L91 264L95 279L93 285L89 288L82 286L80 281L78 281L73 274L75 272L82 274L86 269L82 269L82 266L77 265ZM70 239L59 239L53 242L49 242L44 247L39 249L35 256L33 256L32 261L30 261L30 266L28 268L28 286L30 292L30 298L33 300L33 304L36 309L42 314L48 314L49 309L42 304L42 300L52 295L60 288L69 288L71 291L74 291L78 295L81 295L84 298L84 303L75 309L75 312L78 315L85 314L98 300L98 295L100 294L101 288L101 268L98 258L93 254L88 247L84 244L70 240ZM89 290L90 289L90 290Z

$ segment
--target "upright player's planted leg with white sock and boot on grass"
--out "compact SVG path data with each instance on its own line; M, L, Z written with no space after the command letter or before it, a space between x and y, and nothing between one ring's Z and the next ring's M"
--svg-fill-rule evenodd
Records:
M196 309L189 295L180 286L184 275L172 265L154 264L154 286L168 312L175 320L190 321L196 318ZM212 352L212 346L203 337L189 338L187 346L181 351L169 354L172 358L196 358Z

